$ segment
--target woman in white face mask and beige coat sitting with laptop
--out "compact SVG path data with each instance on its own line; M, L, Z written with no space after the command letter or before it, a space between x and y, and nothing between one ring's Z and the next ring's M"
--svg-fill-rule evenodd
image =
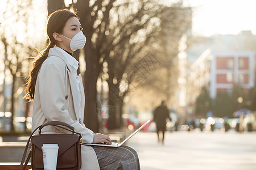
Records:
M48 45L32 62L26 98L34 100L32 131L49 121L62 121L82 134L84 143L108 143L108 135L94 134L84 122L84 88L79 62L72 53L84 47L77 15L67 9L57 10L47 20ZM44 133L65 133L46 126ZM140 169L137 153L130 147L90 147L82 145L81 169Z

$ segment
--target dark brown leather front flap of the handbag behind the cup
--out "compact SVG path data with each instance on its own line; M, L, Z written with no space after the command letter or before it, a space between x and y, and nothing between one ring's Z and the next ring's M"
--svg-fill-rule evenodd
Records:
M60 156L79 142L79 138L78 134L38 134L32 136L31 142L40 150L43 144L57 144L59 146L58 156Z

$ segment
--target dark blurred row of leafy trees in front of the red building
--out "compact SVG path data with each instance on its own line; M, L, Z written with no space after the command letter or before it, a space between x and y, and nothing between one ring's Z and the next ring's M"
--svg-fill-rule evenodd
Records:
M234 84L232 93L227 91L217 92L216 99L211 99L209 89L202 87L200 95L196 99L196 117L207 117L208 112L212 112L218 117L233 117L233 113L242 108L256 111L256 88L251 88L245 92L240 84Z

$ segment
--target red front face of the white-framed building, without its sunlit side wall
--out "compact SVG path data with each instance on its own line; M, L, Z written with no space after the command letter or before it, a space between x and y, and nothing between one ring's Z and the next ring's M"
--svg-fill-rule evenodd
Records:
M254 87L254 52L215 52L210 55L212 98L218 91L231 92L234 84L241 84L245 92Z

